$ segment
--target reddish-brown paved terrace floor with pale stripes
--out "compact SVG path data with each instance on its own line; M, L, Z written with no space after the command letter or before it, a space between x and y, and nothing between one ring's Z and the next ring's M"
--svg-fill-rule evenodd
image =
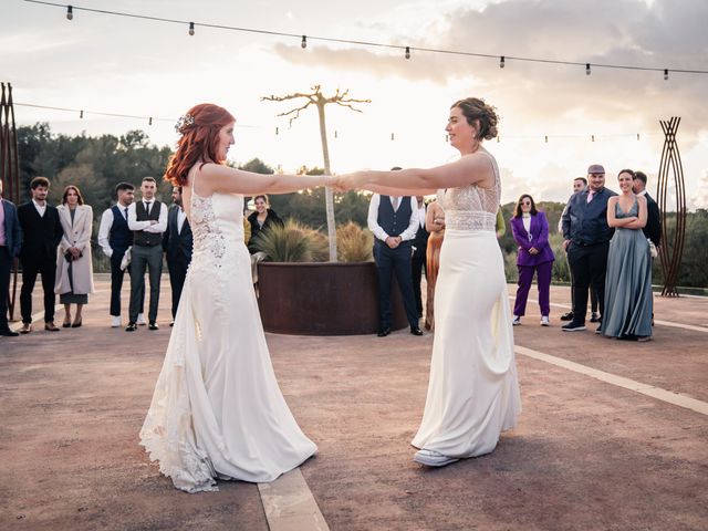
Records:
M706 299L657 298L648 343L561 333L568 288L552 291L552 327L531 302L514 329L520 425L492 455L437 470L409 446L430 334L268 334L317 456L271 485L186 494L137 444L167 288L157 332L108 327L102 280L83 327L0 339L0 529L708 529Z

